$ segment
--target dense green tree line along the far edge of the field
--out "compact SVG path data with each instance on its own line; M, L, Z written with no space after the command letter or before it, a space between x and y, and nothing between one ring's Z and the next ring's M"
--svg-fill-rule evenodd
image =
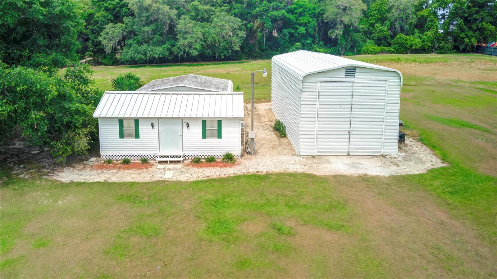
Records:
M80 54L95 64L474 51L497 37L495 0L85 2Z

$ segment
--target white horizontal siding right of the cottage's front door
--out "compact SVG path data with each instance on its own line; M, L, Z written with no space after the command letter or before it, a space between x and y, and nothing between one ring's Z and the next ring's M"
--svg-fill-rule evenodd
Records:
M217 119L212 119L217 127ZM240 123L242 119L221 118L222 122L222 139L217 138L216 134L213 138L202 139L202 119L185 118L183 119L183 145L185 153L224 153L231 151L233 154L240 154L242 142L242 130ZM186 123L189 128L186 128ZM206 121L206 128L209 120ZM209 131L208 129L206 131ZM209 132L207 132L209 133Z

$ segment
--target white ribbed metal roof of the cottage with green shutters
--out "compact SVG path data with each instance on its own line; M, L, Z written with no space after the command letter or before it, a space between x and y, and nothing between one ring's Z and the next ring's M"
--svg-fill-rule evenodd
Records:
M243 118L243 92L106 91L93 117Z

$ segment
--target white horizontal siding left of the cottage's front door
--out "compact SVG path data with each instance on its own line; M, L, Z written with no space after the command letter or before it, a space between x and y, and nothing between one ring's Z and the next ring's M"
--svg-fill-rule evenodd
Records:
M139 118L140 139L135 139L135 129L132 137L119 139L120 118L99 118L100 153L153 153L159 151L159 138L157 136L157 118ZM123 119L123 126L126 123ZM129 119L133 122L134 119ZM154 128L150 126L154 123ZM124 129L126 133L126 129Z

